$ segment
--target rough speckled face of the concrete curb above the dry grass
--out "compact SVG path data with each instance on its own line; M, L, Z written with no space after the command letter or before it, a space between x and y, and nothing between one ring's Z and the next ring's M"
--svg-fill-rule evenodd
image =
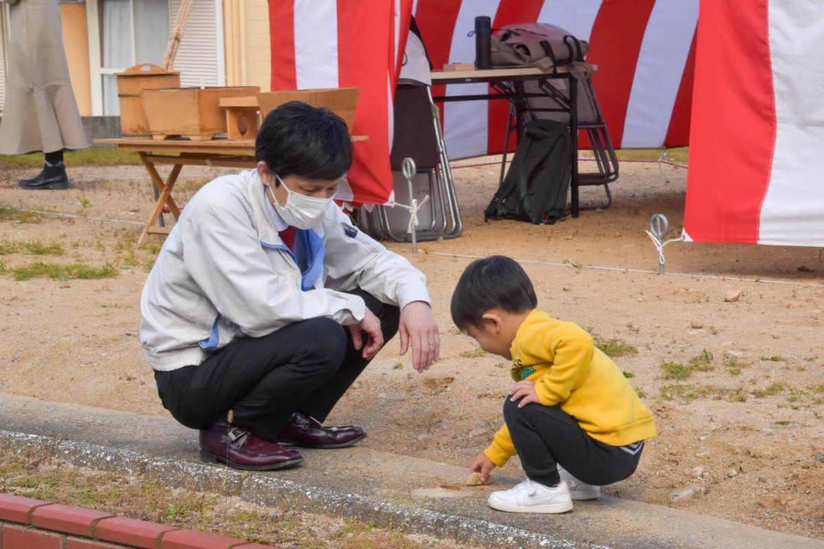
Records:
M529 532L505 524L467 519L412 505L400 505L373 496L344 494L316 486L304 486L279 477L249 477L243 472L200 463L156 458L131 450L105 448L50 436L0 430L0 444L44 452L77 467L156 477L169 486L194 488L237 495L250 503L293 507L317 514L331 514L363 521L375 521L408 532L452 537L459 542L482 547L547 547L552 549L607 549L608 546L574 542L562 537Z

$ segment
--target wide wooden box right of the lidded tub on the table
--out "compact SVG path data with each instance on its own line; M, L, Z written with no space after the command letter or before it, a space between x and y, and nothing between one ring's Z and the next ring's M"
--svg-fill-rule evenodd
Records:
M227 132L226 114L220 107L225 97L245 97L260 91L258 86L178 88L143 91L143 109L152 138L186 136L208 141Z

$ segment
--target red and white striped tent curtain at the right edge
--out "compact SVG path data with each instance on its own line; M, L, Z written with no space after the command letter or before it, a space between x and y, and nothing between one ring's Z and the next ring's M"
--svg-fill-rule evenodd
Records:
M701 2L687 240L824 246L822 51L824 2Z

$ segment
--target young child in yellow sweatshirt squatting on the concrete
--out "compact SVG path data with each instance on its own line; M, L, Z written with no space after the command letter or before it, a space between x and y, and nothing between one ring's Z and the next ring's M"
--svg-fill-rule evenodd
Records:
M571 322L536 309L527 273L510 258L479 259L452 295L452 320L487 352L512 361L505 425L471 472L489 477L513 455L527 480L489 495L493 509L564 513L629 477L655 421L618 366Z

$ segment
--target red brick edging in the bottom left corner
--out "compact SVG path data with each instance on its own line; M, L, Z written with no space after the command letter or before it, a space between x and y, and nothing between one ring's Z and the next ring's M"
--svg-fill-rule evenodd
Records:
M276 549L213 533L0 493L0 549Z

